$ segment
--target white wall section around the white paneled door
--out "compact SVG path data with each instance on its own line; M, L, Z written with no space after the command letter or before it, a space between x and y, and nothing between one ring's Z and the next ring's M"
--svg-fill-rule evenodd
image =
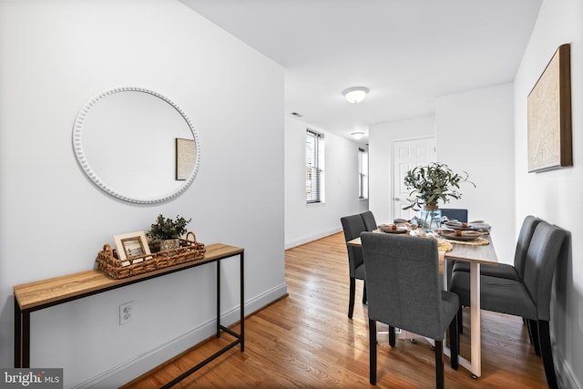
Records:
M391 222L393 211L393 145L395 140L435 137L435 118L384 122L369 128L370 210L378 223Z

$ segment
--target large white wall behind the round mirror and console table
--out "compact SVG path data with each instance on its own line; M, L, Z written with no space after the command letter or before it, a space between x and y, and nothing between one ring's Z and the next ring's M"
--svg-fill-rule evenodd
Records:
M1 366L13 365L13 285L91 269L114 234L148 230L159 213L246 249L246 312L287 292L280 66L176 1L2 2L0 85ZM179 198L115 200L78 167L78 110L119 86L155 90L191 118L201 162ZM221 271L230 323L237 261ZM117 387L213 333L214 280L201 267L33 312L31 363L63 367L66 387ZM128 301L134 321L119 326Z

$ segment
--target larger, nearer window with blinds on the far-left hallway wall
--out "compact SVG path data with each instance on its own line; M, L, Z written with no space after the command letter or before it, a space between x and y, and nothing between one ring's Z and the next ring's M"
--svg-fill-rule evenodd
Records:
M306 131L306 203L323 201L324 136Z

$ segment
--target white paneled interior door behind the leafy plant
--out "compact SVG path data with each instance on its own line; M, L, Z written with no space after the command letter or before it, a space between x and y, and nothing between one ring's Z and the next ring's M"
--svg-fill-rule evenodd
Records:
M410 220L414 210L403 210L410 190L404 185L406 172L418 165L435 162L435 137L395 140L393 147L393 218Z

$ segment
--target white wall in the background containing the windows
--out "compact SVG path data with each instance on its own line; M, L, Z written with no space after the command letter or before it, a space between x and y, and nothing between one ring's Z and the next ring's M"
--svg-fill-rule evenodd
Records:
M325 201L306 204L306 128L324 134ZM285 247L342 230L340 218L368 210L358 199L358 144L296 118L285 118Z

